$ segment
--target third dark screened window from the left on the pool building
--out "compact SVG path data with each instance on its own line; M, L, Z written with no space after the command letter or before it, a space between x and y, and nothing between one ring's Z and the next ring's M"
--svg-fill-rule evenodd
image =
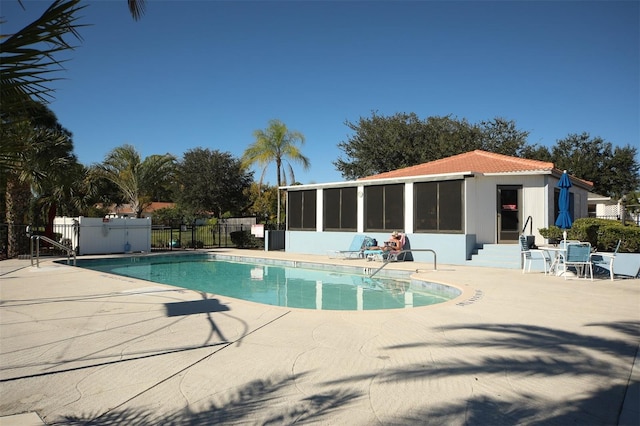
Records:
M365 231L404 229L404 184L364 188Z

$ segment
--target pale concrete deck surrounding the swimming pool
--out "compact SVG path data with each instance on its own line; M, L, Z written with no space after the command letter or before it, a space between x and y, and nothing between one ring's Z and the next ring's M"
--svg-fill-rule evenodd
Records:
M640 423L640 280L388 267L463 294L315 311L0 261L0 425Z

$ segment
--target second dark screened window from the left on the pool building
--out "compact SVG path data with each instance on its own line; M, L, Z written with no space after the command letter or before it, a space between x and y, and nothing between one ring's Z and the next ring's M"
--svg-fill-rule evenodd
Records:
M357 189L334 188L322 192L324 229L355 231L358 225Z

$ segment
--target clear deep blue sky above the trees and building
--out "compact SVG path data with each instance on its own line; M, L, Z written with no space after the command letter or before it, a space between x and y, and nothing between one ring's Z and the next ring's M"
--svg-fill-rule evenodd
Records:
M50 4L0 1L5 34ZM86 165L125 143L239 158L276 118L306 137L296 180L335 182L345 121L372 111L640 145L638 1L149 0L138 22L125 0L83 4L91 26L50 107Z

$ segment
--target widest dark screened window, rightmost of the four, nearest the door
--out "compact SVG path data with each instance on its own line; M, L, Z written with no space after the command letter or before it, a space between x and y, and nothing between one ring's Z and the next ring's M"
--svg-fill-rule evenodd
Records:
M417 232L463 231L463 183L451 180L414 184L414 226Z

